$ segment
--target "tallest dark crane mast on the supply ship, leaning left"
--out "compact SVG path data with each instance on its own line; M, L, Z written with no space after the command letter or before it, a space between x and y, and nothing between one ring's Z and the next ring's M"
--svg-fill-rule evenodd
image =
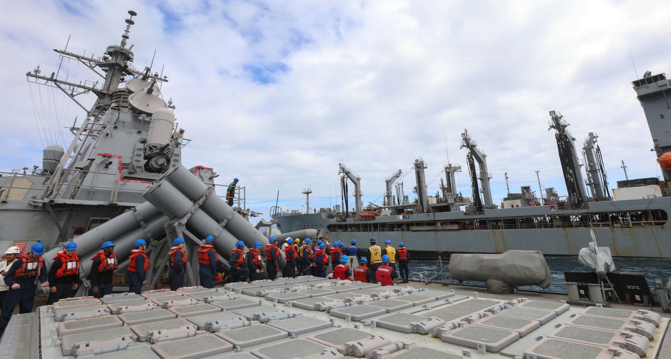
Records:
M582 174L580 173L580 162L574 144L575 138L566 131L568 123L561 113L550 111L550 129L555 130L554 137L557 140L559 160L564 172L564 182L568 192L568 202L572 208L580 208L585 205L584 187L582 187ZM550 130L548 129L548 130Z

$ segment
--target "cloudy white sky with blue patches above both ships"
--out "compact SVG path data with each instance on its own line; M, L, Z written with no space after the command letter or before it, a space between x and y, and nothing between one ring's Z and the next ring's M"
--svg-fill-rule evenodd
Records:
M215 168L220 183L239 177L266 219L277 191L282 209L300 209L308 186L311 207L340 203L340 162L361 176L364 203L380 203L384 178L420 157L435 193L446 138L450 162L466 163L464 128L487 154L495 203L504 172L513 192L537 189L539 170L544 187L566 195L550 110L580 148L588 132L599 135L611 188L624 179L621 160L629 178L661 175L631 81L671 72L666 1L26 0L0 9L3 171L41 165L46 144L67 147L61 127L85 114L58 90L29 86L25 72L56 71L52 49L70 35L68 50L102 54L132 9L134 64L148 66L156 50L154 69L170 81L162 93L192 140L185 165ZM97 77L67 62L64 76ZM414 182L403 178L406 194Z

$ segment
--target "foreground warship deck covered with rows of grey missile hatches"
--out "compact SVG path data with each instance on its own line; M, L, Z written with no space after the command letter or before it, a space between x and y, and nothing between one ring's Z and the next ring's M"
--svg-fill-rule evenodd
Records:
M315 281L292 285L326 289L335 285L335 282ZM410 291L408 287L428 291L409 295L389 293L391 289ZM376 294L375 289L381 294ZM311 305L293 305L293 301L274 303L274 300L270 300L274 298L270 295L272 292L267 292L273 290L277 290L277 286L258 287L258 291L266 292L248 295L242 293L242 289L236 288L236 285L226 285L212 292L211 299L215 301L211 303L214 305L208 306L201 301L190 304L194 301L189 301L191 297L185 295L181 301L173 299L170 302L172 306L164 305L172 309L170 311L158 307L150 311L137 309L139 306L134 301L129 302L133 303L133 307L128 307L130 310L121 315L96 314L103 309L89 308L92 305L89 301L81 307L70 303L72 305L59 306L72 307L71 313L64 316L64 321L56 321L53 306L43 305L35 313L13 316L0 342L0 350L5 358L63 358L76 355L76 358L94 359L327 359L354 358L354 354L375 359L610 359L615 356L613 350L621 345L633 352L639 350L639 354L640 350L646 352L643 356L635 354L637 356L631 358L671 358L668 313L660 313L659 310L654 312L662 317L654 327L654 333L648 332L652 340L649 347L643 345L643 349L631 343L613 344L625 342L625 336L621 336L615 327L604 328L621 323L621 332L627 334L625 326L635 324L629 320L640 314L637 310L648 307L615 303L609 305L607 311L592 309L599 312L585 313L596 307L568 307L560 302L566 298L560 295L476 294L468 287L425 286L422 283L337 294L337 298L343 299L342 295L351 294L358 300L344 307L339 307L338 299L330 298L328 293L333 291L325 291L323 297L297 300L315 303L317 309L328 307L330 313L327 313L305 309ZM266 299L255 294L270 297ZM446 294L449 296L444 298ZM227 299L226 295L234 301L245 299L248 304L242 308L236 306L236 309L222 311L221 308L226 307L222 304L225 301L216 299ZM480 315L484 319L474 321L477 313L484 313L487 309L520 297L529 299L533 305L513 307L509 310L514 309L515 313L511 312L510 315L505 313L505 309L496 315ZM305 298L305 295L301 298ZM406 301L403 301L404 298ZM208 301L207 297L204 299ZM149 300L147 302L152 303ZM413 305L399 306L400 303ZM320 304L323 305L320 307ZM193 310L189 307L193 307ZM133 308L138 311L134 312ZM181 310L175 310L177 308ZM154 311L156 313L152 313ZM451 324L460 321L464 323L466 317L470 317L472 324ZM482 323L491 318L497 318L496 322L489 323L493 325ZM584 326L577 322L574 323L576 325L566 325L569 321L576 321L576 318L590 319L597 323L593 325L602 327ZM436 325L445 329L437 330ZM650 325L647 326L650 330ZM329 331L333 333L326 334ZM437 336L432 336L431 331ZM478 346L482 348L478 350Z

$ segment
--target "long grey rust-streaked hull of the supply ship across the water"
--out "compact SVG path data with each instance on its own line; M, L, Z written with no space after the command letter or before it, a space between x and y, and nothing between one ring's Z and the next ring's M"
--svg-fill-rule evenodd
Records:
M515 209L491 209L484 215L463 212L421 213L405 216L375 217L374 220L343 221L331 213L285 215L277 217L279 229L291 232L305 228L323 228L329 242L340 240L349 244L356 240L368 247L370 237L391 240L394 246L403 242L412 258L435 259L452 253L503 253L507 250L539 250L546 256L577 256L580 248L591 241L594 229L599 246L611 248L614 256L671 257L671 228L663 221L611 222L590 221L595 213L641 213L671 209L671 198L656 197L631 201L590 203L590 209L551 211L549 206ZM588 219L560 222L562 218ZM552 224L525 224L525 219L554 219ZM613 217L611 217L613 218ZM649 218L645 218L649 219ZM603 220L603 219L602 219ZM446 225L448 222L471 225ZM505 225L516 221L517 224ZM440 223L441 225L437 225ZM404 227L405 226L405 227ZM472 228L472 229L470 229Z

